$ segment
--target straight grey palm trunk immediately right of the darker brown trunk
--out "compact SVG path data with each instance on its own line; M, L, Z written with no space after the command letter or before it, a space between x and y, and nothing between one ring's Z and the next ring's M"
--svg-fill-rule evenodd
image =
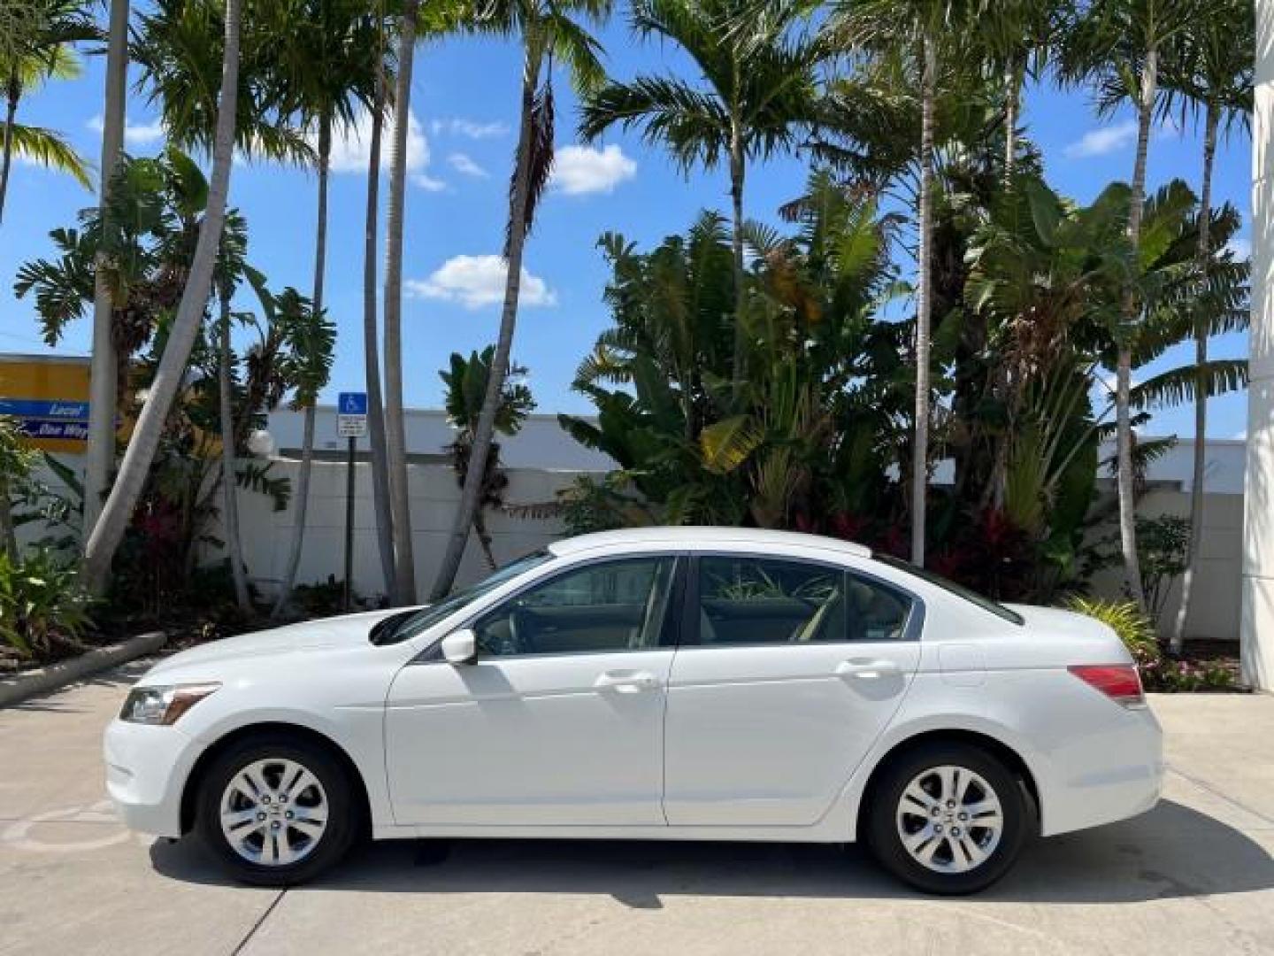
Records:
M412 119L412 61L419 0L406 0L399 33L394 84L394 139L390 144L390 204L385 213L385 459L394 525L394 603L415 603L412 505L406 486L406 435L403 423L403 201L406 184L406 130Z

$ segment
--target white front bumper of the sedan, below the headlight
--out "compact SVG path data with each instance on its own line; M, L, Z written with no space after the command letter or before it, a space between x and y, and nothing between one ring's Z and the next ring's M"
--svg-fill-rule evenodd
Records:
M102 741L106 792L130 830L181 836L181 793L200 746L176 727L116 718Z

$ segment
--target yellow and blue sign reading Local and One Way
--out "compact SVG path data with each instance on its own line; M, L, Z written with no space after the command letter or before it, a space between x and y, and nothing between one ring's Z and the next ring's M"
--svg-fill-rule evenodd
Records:
M80 356L0 353L0 414L17 418L37 449L83 454L88 370Z

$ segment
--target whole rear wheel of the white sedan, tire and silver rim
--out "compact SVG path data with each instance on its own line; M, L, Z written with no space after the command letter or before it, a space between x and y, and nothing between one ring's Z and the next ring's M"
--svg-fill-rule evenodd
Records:
M931 894L971 894L1004 876L1034 822L1022 781L986 751L936 743L883 770L866 839L880 863Z

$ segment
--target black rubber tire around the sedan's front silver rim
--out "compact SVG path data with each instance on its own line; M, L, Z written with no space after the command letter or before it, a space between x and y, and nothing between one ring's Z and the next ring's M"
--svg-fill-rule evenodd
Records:
M303 855L293 863L252 862L241 855L222 831L223 794L236 776L257 761L290 761L304 767L317 779L326 798L326 825L312 844L298 831L288 831L297 843L306 846ZM269 770L270 767L266 769L268 772ZM294 795L297 803L293 806L301 807L299 800L307 795L311 800L317 799L317 793L318 790L310 789L308 793ZM231 876L254 886L297 886L313 880L345 855L362 830L359 823L359 804L354 799L353 781L345 767L326 747L303 738L282 733L245 738L219 753L199 781L195 831ZM282 825L282 818L271 823L275 829Z

